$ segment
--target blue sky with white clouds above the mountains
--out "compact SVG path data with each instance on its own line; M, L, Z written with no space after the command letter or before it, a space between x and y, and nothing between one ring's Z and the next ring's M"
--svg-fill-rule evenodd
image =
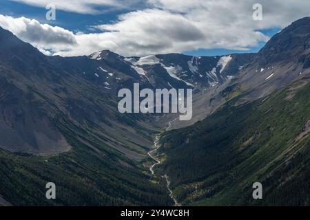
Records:
M55 8L55 19L46 18L47 5ZM282 28L309 15L309 0L0 1L2 28L60 56L258 52Z

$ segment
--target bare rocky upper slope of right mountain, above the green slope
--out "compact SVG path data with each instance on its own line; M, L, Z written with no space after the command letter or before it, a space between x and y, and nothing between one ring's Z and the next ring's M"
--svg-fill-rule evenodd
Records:
M310 17L293 22L265 45L242 69L236 84L251 90L240 102L266 96L285 87L309 67Z

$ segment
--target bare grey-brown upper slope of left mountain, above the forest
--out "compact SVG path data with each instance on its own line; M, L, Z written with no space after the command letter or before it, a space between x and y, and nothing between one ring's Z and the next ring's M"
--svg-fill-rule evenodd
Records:
M119 65L112 69L110 63L95 62L86 56L44 56L9 32L2 32L1 47L4 49L1 50L0 61L0 118L3 122L1 143L4 148L35 154L62 151L63 147L59 142L63 140L63 136L55 127L56 123L52 123L59 115L67 115L68 120L79 126L94 127L96 124L101 127L101 131L105 131L103 137L115 135L114 129L118 130L118 135L132 133L125 131L123 125L118 125L122 119L116 108L117 87L109 86L118 81L134 82L134 77L138 78L134 70L128 72L125 69L124 74L117 69ZM136 117L137 115L127 115L126 118L130 123ZM114 126L110 126L111 122L114 122ZM127 130L132 129L131 125L127 126L130 126ZM143 141L143 137L136 136L137 144L152 144L148 140ZM68 145L64 140L63 142L63 145ZM127 140L123 144L136 146L130 142L131 140ZM50 148L55 145L61 149L48 152L49 149L43 149L46 145Z

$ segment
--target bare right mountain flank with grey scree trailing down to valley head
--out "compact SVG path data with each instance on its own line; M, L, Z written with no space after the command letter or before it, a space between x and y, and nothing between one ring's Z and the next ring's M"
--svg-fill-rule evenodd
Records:
M240 94L236 105L263 98L309 72L309 17L293 22L276 34L250 61L240 65L234 78L200 93L194 101L191 122L172 123L174 128L192 125L214 113ZM245 56L241 56L245 58Z

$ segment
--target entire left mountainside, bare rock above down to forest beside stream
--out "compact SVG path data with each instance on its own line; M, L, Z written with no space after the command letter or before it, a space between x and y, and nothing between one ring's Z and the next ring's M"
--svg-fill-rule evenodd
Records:
M44 56L2 29L0 39L1 198L14 206L172 203L143 166L157 129L143 115L120 115L109 87L134 82L134 70ZM50 181L54 201L45 198Z

